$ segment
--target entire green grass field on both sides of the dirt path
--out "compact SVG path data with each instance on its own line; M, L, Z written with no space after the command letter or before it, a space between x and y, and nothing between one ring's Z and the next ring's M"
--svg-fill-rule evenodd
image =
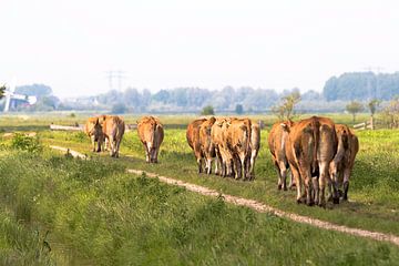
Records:
M12 126L40 130L38 142L24 143L23 137L16 141L16 136L1 139L3 265L27 265L32 259L38 265L399 264L399 248L390 244L257 214L222 200L124 173L126 167L145 170L256 198L284 211L399 235L398 131L358 132L360 152L349 191L352 202L323 209L297 205L293 191L277 191L277 175L266 146L267 129L262 132L255 182L239 182L196 174L184 130L166 130L160 164L149 165L135 132L125 134L122 157L114 160L106 154L92 154L89 139L82 133L44 130L50 120L61 124L84 121L84 117L58 119L0 120L0 129L6 131ZM181 124L193 117L161 119L167 124ZM272 117L268 120L272 123ZM49 144L86 153L92 160L65 157L45 149ZM45 232L50 232L48 236ZM51 252L43 241L50 244Z

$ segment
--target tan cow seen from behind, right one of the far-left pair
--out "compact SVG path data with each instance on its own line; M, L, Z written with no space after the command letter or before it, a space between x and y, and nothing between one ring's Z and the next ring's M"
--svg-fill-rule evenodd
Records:
M125 123L116 115L102 115L100 120L103 120L102 130L110 144L110 155L112 157L119 157Z

